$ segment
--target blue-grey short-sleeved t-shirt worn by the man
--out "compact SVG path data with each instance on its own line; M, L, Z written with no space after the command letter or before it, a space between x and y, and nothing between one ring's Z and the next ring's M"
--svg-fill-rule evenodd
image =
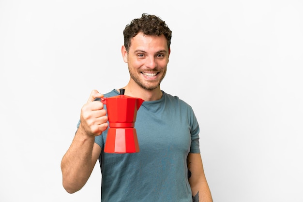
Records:
M186 159L200 152L199 125L190 105L162 92L160 100L144 101L137 111L140 152L102 150L102 202L192 202ZM105 97L117 95L112 90ZM101 148L107 130L95 137Z

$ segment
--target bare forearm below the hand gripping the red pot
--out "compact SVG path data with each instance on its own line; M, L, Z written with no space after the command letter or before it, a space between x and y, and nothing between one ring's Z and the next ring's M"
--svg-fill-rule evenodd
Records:
M91 175L94 137L86 135L81 126L61 161L63 187L69 193L81 189Z

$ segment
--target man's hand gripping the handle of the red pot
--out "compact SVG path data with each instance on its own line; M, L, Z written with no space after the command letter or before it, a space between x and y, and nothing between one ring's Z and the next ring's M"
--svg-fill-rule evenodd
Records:
M81 109L79 128L84 130L87 135L101 135L108 127L108 117L106 116L106 110L103 108L103 103L94 101L96 98L103 97L97 90L92 90L90 98Z

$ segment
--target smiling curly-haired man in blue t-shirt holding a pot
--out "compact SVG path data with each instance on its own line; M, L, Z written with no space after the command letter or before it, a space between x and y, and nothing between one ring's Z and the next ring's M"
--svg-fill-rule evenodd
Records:
M144 100L136 116L140 152L104 152L108 130L102 95L92 90L81 109L78 130L61 161L63 187L80 190L97 159L104 202L212 202L199 150L199 126L192 108L160 89L170 54L171 30L155 15L142 14L123 31L121 53L130 80L125 95ZM119 88L118 88L119 89Z

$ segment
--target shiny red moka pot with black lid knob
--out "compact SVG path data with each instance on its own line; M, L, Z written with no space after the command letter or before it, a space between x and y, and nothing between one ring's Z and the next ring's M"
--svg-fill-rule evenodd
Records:
M135 153L139 152L139 144L135 127L137 110L144 100L124 95L102 98L106 104L109 129L107 132L104 152Z

